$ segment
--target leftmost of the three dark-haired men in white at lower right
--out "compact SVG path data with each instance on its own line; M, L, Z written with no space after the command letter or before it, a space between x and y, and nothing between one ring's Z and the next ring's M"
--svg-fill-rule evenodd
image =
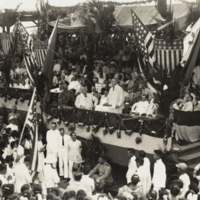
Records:
M128 163L128 171L126 173L126 180L127 183L131 182L131 177L136 173L137 171L137 165L136 165L136 157L135 157L135 150L134 149L128 149L127 155L130 158Z

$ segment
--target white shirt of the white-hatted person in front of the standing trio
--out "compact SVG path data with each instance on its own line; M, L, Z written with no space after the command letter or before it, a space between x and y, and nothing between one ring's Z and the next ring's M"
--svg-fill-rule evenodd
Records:
M44 166L44 180L46 188L56 187L60 181L56 169L53 169L49 164Z

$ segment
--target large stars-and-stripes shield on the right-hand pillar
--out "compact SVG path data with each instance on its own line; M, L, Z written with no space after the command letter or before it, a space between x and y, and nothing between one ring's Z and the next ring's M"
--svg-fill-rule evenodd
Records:
M171 74L182 59L183 38L174 40L172 43L155 38L154 47L157 64Z

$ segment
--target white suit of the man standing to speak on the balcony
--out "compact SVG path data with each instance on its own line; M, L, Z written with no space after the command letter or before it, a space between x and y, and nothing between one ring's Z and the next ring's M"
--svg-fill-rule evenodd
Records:
M121 86L117 84L110 88L108 93L108 102L113 108L119 106L119 108L116 109L116 113L122 113L124 107L124 90Z

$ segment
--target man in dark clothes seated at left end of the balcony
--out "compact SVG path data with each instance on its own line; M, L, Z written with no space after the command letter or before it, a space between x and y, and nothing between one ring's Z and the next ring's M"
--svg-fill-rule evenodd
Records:
M68 86L66 83L61 86L62 92L58 95L58 106L71 106L74 107L75 103L75 94L72 90L68 90Z

